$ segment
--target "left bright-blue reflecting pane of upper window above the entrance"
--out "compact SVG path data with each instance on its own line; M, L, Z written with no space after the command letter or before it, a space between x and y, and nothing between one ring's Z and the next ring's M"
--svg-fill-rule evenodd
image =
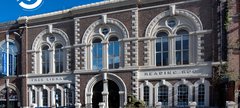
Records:
M102 57L102 40L96 38L93 40L93 48L92 48L92 69L98 70L103 68L103 57Z

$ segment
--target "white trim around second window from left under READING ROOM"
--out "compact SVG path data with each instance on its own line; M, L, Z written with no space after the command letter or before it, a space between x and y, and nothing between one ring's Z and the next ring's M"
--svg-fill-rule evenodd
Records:
M168 107L171 107L172 106L172 84L169 83L168 81L166 80L161 80L160 82L158 82L156 85L155 85L155 104L158 103L158 87L161 86L161 85L165 85L168 87Z

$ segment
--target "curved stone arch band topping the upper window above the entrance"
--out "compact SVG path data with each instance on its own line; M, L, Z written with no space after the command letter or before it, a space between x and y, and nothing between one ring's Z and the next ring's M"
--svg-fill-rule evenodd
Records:
M84 35L83 35L83 38L82 38L82 44L87 44L90 42L90 39L91 39L91 34L95 31L95 28L99 25L108 25L108 24L112 24L114 26L116 26L118 29L121 30L121 34L122 34L122 38L128 38L129 37L129 33L128 33L128 30L127 30L127 27L122 23L120 22L119 20L117 19L113 19L113 18L108 18L107 19L107 22L104 23L101 19L100 20L97 20L95 22L93 22L88 28L87 30L85 31Z

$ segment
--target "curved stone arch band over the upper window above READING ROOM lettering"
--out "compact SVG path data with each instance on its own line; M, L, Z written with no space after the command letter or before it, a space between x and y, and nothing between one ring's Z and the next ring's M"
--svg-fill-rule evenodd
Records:
M200 18L197 17L196 14L194 14L191 11L185 10L185 9L176 9L175 11L175 15L179 15L179 16L184 16L186 18L188 18L190 21L192 21L195 25L194 25L194 30L195 31L199 31L199 30L203 30L203 25L202 22L200 20ZM152 37L154 36L154 28L156 27L156 25L158 24L158 22L165 17L171 16L171 12L170 10L168 11L164 11L162 13L160 13L159 15L157 15L148 25L147 29L146 29L146 33L145 33L145 37Z

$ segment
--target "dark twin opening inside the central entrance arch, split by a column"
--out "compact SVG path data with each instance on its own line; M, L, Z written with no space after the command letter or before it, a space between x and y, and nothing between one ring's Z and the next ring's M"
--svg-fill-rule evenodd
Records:
M98 104L103 101L102 96L103 91L103 81L97 82L93 87L93 108L99 108ZM112 81L108 80L108 103L109 108L119 108L120 107L120 95L118 85Z

